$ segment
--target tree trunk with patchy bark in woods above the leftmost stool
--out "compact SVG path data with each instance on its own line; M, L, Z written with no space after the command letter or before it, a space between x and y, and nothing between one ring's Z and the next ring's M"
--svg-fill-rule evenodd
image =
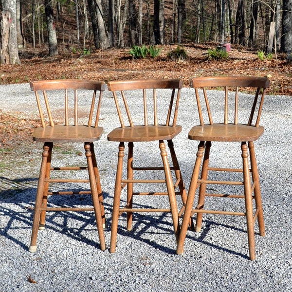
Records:
M53 2L52 0L45 0L45 12L49 40L49 55L55 56L58 55L58 42L56 36L56 27L52 2Z

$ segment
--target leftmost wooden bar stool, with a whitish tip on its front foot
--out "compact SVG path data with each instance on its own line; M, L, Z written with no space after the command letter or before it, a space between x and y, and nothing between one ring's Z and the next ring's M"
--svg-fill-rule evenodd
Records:
M105 211L103 206L102 189L99 180L98 167L94 153L94 141L98 141L103 133L103 128L98 127L102 92L105 90L103 81L88 80L44 80L31 82L31 90L35 91L37 107L40 114L41 127L36 128L33 139L43 142L42 162L37 185L37 197L34 212L33 230L31 237L30 252L37 249L37 231L45 227L45 216L47 211L93 211L97 222L97 229L101 250L106 249L104 230ZM50 107L51 98L57 91L64 94L62 99L57 99L62 108L54 106L55 115ZM98 93L98 95L97 95ZM90 98L88 98L90 94ZM40 96L43 95L43 100ZM70 98L71 97L71 98ZM87 103L87 108L79 110L78 98ZM52 103L52 102L51 102ZM43 110L45 108L46 110ZM55 109L57 108L57 109ZM46 112L45 112L46 111ZM86 111L87 123L81 122L82 114ZM82 114L81 114L82 112ZM63 118L60 118L62 113ZM45 118L47 117L47 119ZM63 121L62 121L63 120ZM94 123L93 123L94 121ZM54 143L84 143L87 166L62 166L52 167L52 150ZM71 161L68 161L71 164ZM51 178L52 171L86 170L87 179L61 179ZM50 183L89 183L90 190L73 191L49 191ZM84 195L91 194L93 208L85 207L48 207L49 195Z

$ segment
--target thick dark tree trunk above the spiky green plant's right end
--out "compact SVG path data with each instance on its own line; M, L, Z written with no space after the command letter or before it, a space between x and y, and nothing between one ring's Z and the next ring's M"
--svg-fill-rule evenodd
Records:
M164 0L154 0L155 44L164 44Z

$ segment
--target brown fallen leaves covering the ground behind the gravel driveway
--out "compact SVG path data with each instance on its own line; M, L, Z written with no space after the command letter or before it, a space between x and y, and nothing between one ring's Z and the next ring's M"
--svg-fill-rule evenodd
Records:
M23 49L19 51L21 65L0 66L0 84L65 78L106 82L131 78L183 78L187 87L190 77L255 75L270 78L271 86L267 94L292 96L292 62L287 61L287 54L261 61L257 51L232 45L229 58L216 61L210 60L207 55L208 49L216 48L216 44L187 44L183 46L188 56L186 60L169 60L167 53L175 48L165 45L161 54L154 59L132 59L128 49L95 51L89 55L71 49L55 57L49 57L48 51ZM18 113L2 112L0 109L0 147L9 146L16 140L31 139L35 126L36 121L27 123L26 119L18 117Z

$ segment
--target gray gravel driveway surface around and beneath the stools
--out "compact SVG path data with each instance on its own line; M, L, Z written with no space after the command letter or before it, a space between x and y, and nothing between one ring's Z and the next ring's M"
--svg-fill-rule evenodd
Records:
M28 84L0 86L0 92L1 110L37 116L34 94ZM188 188L197 142L188 141L187 132L198 123L191 89L182 90L178 123L183 131L174 144ZM265 133L256 143L256 154L266 237L260 237L256 227L255 261L248 259L245 219L215 215L204 216L200 233L188 231L185 252L179 256L175 255L175 238L168 214L138 214L129 232L122 217L116 253L110 254L99 249L92 213L49 213L46 229L37 238L37 252L31 254L28 252L31 207L35 201L42 146L32 142L19 155L11 157L1 151L0 291L292 291L292 96L266 96L261 124ZM118 126L110 92L104 95L100 125L105 133L95 148L100 153L98 165L109 247L118 146L106 140L109 131ZM148 151L141 155L143 160L151 160L152 152L158 148L154 146L151 150L139 146L139 151ZM216 152L219 146L214 144L213 148ZM234 149L229 150L229 158L234 157ZM69 152L78 150L83 151L82 146L72 145ZM60 160L63 157L60 162L65 164L68 156L58 151L56 155ZM84 159L84 156L73 157ZM217 156L217 161L225 159ZM53 203L67 204L60 199ZM85 198L82 204L91 202ZM229 204L235 209L242 206L232 200ZM37 283L30 283L28 277Z

